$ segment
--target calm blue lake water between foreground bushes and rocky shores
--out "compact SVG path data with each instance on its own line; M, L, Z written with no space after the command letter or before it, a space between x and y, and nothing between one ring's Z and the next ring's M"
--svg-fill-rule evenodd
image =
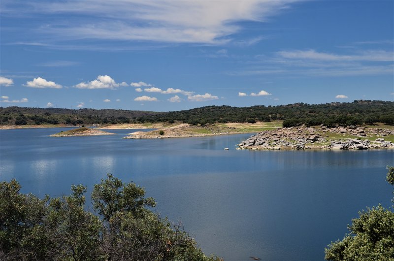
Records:
M393 150L250 151L251 134L173 139L49 137L69 128L0 130L0 180L23 193L88 193L106 173L145 187L204 253L226 261L323 261L366 206L391 206ZM224 150L229 148L229 150ZM90 204L88 202L88 204Z

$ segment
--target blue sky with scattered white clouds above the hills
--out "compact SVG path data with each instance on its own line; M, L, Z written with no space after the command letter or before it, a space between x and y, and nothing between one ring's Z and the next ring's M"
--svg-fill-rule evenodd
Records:
M394 101L394 0L1 0L0 106Z

